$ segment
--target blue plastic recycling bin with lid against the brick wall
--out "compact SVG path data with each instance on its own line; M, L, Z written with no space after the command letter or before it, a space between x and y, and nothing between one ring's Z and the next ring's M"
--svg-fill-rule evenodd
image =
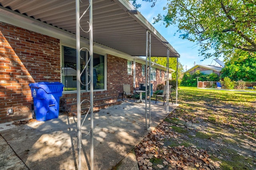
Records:
M64 85L59 82L39 82L30 83L29 87L34 100L33 118L37 121L58 118Z

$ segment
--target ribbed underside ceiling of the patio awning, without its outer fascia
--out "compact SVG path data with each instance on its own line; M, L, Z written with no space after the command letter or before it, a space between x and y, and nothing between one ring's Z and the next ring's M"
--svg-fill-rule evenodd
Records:
M116 1L116 2L115 2ZM146 55L146 30L137 16L127 12L120 1L124 0L93 0L93 41L118 51L134 55ZM72 34L76 34L76 2L74 0L0 0L1 6L45 22ZM88 0L80 3L80 16L88 8ZM89 11L81 19L80 25L88 31ZM156 30L151 32L151 56L166 56L167 48L170 57L178 53L166 40L158 36ZM89 39L89 33L80 35Z

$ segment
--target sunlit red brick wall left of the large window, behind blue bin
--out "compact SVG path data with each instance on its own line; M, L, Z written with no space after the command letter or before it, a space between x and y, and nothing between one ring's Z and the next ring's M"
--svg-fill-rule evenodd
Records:
M29 83L60 81L59 48L55 38L0 22L0 123L31 117Z

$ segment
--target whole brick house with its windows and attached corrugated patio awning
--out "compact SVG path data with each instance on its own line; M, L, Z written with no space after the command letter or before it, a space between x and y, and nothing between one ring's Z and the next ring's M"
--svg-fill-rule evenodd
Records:
M86 3L81 8L86 9ZM98 110L120 103L123 84L138 89L145 83L146 60L139 56L146 55L147 30L151 32L152 56L166 57L167 49L170 57L179 54L140 13L128 12L136 9L127 0L93 3L94 110ZM0 123L31 117L29 84L40 81L63 83L62 111L76 112L75 13L75 1L70 0L0 0ZM86 29L88 24L81 26ZM81 33L81 47L89 49L88 37ZM80 53L80 70L88 61L86 48ZM156 90L166 81L166 67L154 63L151 68L150 83ZM168 71L171 78L174 70ZM82 100L90 98L88 74L85 71L81 76ZM8 109L14 114L8 115Z

